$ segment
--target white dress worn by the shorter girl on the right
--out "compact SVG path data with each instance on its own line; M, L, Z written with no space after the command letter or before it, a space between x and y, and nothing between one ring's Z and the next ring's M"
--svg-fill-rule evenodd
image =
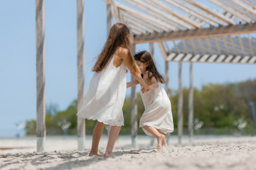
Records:
M174 132L174 121L171 113L171 101L166 94L163 86L159 83L159 87L154 90L146 91L142 94L142 101L145 111L139 120L139 128L144 125L154 126L163 133ZM152 136L148 131L142 130L146 135Z

